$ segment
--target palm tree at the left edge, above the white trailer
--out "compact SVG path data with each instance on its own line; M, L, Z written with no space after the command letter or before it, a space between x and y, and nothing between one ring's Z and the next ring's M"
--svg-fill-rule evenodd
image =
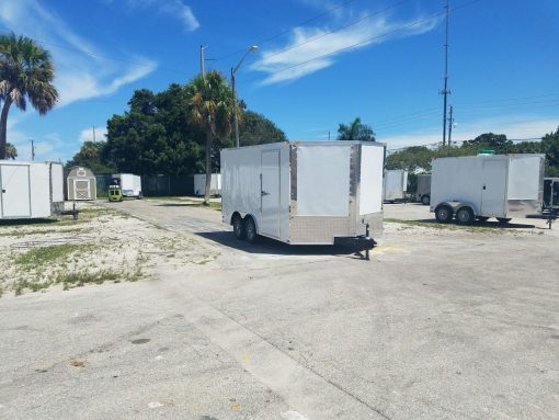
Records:
M27 101L39 115L50 111L58 100L52 84L55 71L50 54L33 39L12 32L0 35L0 159L5 159L7 125L10 106L25 111Z

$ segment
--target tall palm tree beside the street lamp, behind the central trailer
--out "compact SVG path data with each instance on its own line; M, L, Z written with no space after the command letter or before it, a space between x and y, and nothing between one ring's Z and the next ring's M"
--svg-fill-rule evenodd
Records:
M214 139L227 137L231 133L233 97L227 79L213 70L197 76L185 89L186 118L206 133L206 191L204 204L209 204L212 182L212 144ZM240 112L237 106L237 112Z

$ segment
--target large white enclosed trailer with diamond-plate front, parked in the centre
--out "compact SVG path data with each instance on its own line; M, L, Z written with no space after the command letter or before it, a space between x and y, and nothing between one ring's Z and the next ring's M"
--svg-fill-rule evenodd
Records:
M221 150L223 218L235 236L290 245L375 246L385 145L284 141Z

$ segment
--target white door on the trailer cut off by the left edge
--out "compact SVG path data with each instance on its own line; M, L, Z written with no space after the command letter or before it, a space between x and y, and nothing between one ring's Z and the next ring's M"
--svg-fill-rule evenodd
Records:
M30 167L0 166L2 217L31 217Z

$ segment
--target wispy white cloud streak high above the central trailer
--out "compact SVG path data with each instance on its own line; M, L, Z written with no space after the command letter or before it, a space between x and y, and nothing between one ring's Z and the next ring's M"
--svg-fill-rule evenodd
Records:
M422 34L433 30L438 22L435 18L397 22L387 16L366 18L363 14L356 24L336 32L328 27L296 27L286 45L263 53L250 67L267 75L262 84L292 81L332 66L342 54L395 37Z

